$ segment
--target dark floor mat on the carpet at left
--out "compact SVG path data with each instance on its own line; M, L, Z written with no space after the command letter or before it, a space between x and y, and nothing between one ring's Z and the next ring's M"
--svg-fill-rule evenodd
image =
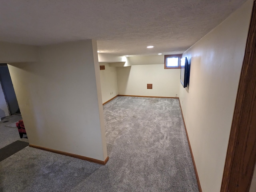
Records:
M28 146L28 142L24 141L15 141L3 148L0 149L0 161L5 160L6 158L10 157L14 153L22 150L26 146Z

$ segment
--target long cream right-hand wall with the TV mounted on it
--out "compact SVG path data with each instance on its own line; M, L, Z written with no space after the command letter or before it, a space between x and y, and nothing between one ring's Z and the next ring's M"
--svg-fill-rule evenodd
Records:
M183 54L192 62L180 102L204 192L220 191L252 2Z

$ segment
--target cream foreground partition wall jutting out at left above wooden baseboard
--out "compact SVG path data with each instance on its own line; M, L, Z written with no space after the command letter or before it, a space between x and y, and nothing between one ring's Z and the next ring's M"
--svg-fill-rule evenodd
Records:
M30 144L105 160L97 44L39 48L40 62L8 64Z

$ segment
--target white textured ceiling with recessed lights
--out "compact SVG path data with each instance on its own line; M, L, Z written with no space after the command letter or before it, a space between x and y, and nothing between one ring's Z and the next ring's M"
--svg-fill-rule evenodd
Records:
M96 39L102 53L182 53L244 2L0 0L0 41L47 45Z

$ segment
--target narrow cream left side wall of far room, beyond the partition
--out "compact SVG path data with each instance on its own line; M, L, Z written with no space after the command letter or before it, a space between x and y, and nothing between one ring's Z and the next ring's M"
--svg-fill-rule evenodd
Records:
M100 70L100 84L102 92L102 103L118 95L117 70L110 67L109 63L100 63L105 66L105 70Z

